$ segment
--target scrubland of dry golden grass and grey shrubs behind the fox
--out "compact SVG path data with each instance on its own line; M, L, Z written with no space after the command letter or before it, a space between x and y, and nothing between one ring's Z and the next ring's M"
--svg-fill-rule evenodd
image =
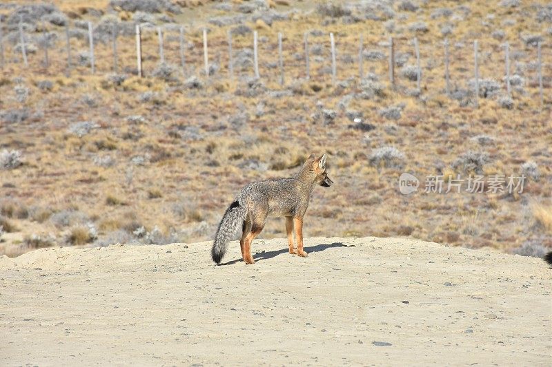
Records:
M0 254L210 240L240 187L293 175L309 154L324 151L335 185L315 189L306 237L402 236L534 256L552 247L552 8L546 1L159 1L152 9L148 1L22 3L0 5ZM137 75L136 24L142 29L143 78ZM163 64L157 27L164 37ZM330 32L337 49L335 83ZM390 36L395 85L388 72ZM416 193L400 193L403 172L420 179ZM522 193L494 193L489 183L484 192L470 193L466 182L461 193L426 193L424 182L432 175L526 180ZM284 222L271 220L260 238L284 233Z

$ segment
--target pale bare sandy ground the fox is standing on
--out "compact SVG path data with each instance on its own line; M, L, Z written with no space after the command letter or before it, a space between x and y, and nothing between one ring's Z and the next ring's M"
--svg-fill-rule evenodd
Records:
M0 259L0 361L38 365L544 366L552 269L398 238L42 249ZM383 344L383 345L382 345Z

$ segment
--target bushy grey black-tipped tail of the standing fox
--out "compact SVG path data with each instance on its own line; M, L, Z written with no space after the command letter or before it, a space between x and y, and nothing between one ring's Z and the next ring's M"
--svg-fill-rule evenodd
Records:
M213 261L220 264L224 253L226 253L226 247L228 247L228 241L230 241L237 230L243 226L246 219L246 208L240 205L238 200L235 200L230 207L226 209L224 216L217 229L217 235L215 235L215 241L213 242L213 249L211 249L211 257Z

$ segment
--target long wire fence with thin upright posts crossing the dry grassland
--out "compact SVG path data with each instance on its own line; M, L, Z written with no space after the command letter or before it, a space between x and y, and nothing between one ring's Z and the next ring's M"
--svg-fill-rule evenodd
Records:
M99 28L88 22L86 28L66 25L65 32L48 32L43 26L33 37L23 23L7 35L0 24L1 71L17 66L44 75L124 72L150 77L159 65L170 64L179 65L184 78L250 76L282 87L297 79L347 87L368 78L386 80L392 90L406 88L413 96L467 91L474 107L489 94L526 96L524 87L542 107L544 89L552 81L551 49L542 39L422 43L389 37L369 43L362 34L228 31L220 37L210 36L206 28L186 34L179 25L163 29L136 24L134 30L121 30L111 23Z

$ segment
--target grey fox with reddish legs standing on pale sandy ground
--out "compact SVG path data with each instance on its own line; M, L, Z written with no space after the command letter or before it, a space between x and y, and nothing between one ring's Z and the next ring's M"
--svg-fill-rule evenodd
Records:
M333 181L326 171L326 154L318 158L311 154L297 173L290 178L250 182L239 192L222 217L211 258L221 263L228 242L242 228L239 247L246 264L255 264L251 256L251 243L262 232L267 217L286 218L289 253L307 257L303 247L303 218L315 185L331 187ZM294 248L293 231L297 240Z

